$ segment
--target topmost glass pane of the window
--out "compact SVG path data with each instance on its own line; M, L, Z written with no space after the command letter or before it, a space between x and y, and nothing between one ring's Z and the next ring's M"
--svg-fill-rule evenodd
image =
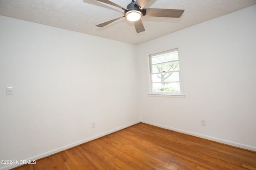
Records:
M152 56L152 64L178 60L178 51Z

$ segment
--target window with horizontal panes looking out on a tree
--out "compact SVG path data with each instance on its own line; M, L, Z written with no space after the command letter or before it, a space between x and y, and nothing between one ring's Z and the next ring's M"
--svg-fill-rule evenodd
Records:
M149 55L151 94L183 95L178 49Z

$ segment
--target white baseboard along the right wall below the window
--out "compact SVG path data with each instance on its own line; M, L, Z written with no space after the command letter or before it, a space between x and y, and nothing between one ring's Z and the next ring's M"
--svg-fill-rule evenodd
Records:
M216 142L219 142L219 143L231 145L231 146L234 146L234 147L239 147L239 148L242 148L242 149L248 149L248 150L256 151L256 147L253 147L253 146L244 145L244 144L236 143L236 142L232 142L232 141L227 141L227 140L219 139L219 138L216 138L216 137L210 137L210 136L207 136L207 135L202 135L202 134L194 133L194 132L190 132L190 131L184 131L182 129L177 129L177 128L173 128L173 127L169 127L169 126L165 126L165 125L160 125L160 124L152 123L152 122L149 122L149 121L141 121L141 122L149 124L149 125L153 125L153 126L156 126L156 127L162 127L164 129L169 129L169 130L172 130L172 131L185 133L185 134L188 134L188 135L192 135L192 136L208 139L208 140L211 140L211 141L216 141Z

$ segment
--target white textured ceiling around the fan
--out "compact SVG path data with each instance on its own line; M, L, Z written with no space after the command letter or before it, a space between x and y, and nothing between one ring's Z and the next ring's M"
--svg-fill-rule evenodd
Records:
M112 2L126 7L131 0ZM95 0L0 0L0 15L137 45L254 4L256 0L150 0L145 8L185 12L181 18L144 16L146 31L141 33L126 18L95 27L124 16L120 8Z

